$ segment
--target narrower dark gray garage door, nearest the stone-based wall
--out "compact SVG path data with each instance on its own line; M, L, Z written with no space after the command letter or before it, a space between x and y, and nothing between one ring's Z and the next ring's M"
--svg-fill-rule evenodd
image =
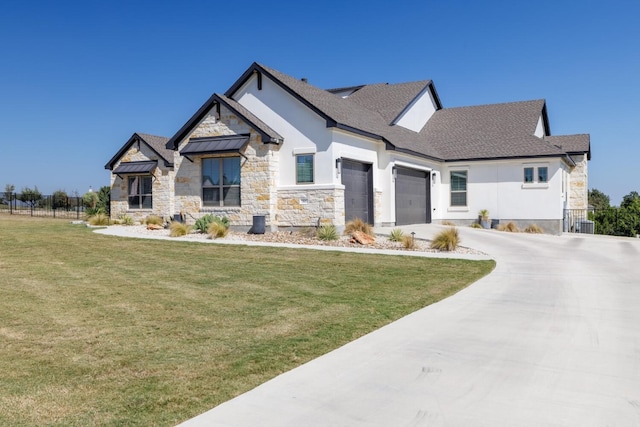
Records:
M345 220L360 218L373 224L373 171L371 164L342 159Z

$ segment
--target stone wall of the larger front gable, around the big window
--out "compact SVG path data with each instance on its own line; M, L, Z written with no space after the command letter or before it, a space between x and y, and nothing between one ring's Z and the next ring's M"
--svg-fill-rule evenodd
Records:
M240 205L238 207L214 207L202 205L202 158L193 156L193 162L179 155L189 138L250 134L249 143L242 153L240 172ZM248 228L254 215L264 215L266 225L274 228L277 207L278 145L264 144L262 138L240 118L226 108L221 108L220 119L208 114L194 131L179 145L175 157L175 213L183 213L187 222L193 223L203 215L225 215L232 226Z

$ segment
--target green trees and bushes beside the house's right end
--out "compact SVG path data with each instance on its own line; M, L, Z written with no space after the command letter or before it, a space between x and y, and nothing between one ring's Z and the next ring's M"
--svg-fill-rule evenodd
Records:
M640 194L632 191L622 198L619 207L611 206L609 196L593 189L589 190L589 219L596 233L611 236L636 237L640 234Z

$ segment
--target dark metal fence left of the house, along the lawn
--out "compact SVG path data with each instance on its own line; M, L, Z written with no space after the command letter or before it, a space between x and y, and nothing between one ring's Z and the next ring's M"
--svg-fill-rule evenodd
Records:
M40 217L83 219L82 197L0 193L0 213Z

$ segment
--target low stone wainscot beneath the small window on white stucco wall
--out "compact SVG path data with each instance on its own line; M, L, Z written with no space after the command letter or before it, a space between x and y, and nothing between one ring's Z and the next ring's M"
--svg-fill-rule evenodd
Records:
M344 227L344 188L308 187L278 190L276 225L281 228L333 224Z

